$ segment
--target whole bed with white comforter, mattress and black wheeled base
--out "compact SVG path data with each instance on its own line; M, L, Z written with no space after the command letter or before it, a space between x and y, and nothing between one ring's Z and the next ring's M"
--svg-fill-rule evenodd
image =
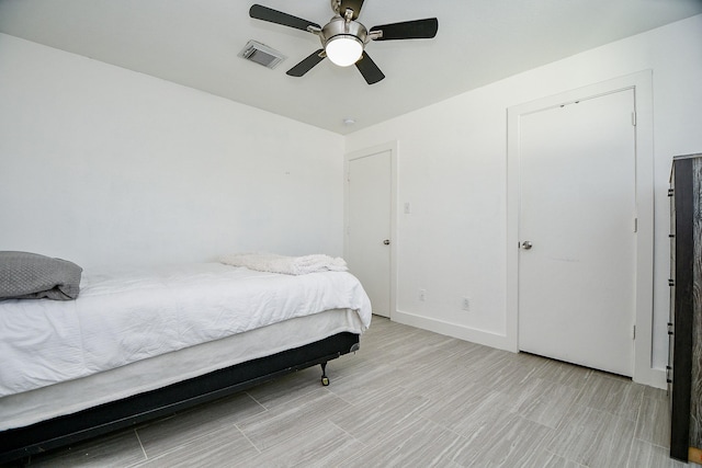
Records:
M0 463L317 364L327 385L327 362L356 351L371 321L343 271L82 272L68 299L0 300Z

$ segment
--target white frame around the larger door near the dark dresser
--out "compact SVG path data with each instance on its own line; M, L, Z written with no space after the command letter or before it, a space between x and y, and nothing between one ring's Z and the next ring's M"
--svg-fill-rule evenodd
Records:
M654 317L654 145L652 71L645 70L542 98L507 110L507 340L519 351L520 117L565 103L632 89L636 113L636 267L634 381L665 388L665 372L652 367Z

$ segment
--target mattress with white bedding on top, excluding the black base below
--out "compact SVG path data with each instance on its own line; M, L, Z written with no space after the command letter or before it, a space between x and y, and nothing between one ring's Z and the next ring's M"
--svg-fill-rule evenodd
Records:
M361 334L370 322L367 295L346 272L84 272L76 300L0 301L0 430Z

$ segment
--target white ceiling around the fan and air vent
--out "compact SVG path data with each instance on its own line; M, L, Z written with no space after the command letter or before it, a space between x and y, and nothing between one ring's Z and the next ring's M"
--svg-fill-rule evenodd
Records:
M0 0L0 32L348 134L521 71L702 13L702 0L366 0L374 25L435 16L433 39L375 42L386 78L324 60L304 31L252 20L254 1ZM325 24L329 0L256 0ZM288 58L270 70L237 57L249 39ZM344 118L355 125L344 126Z

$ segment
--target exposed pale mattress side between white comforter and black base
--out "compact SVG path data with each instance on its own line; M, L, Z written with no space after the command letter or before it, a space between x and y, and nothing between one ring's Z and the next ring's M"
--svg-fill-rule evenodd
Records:
M366 329L358 311L327 310L185 347L88 377L0 398L0 431L154 390L257 357Z

